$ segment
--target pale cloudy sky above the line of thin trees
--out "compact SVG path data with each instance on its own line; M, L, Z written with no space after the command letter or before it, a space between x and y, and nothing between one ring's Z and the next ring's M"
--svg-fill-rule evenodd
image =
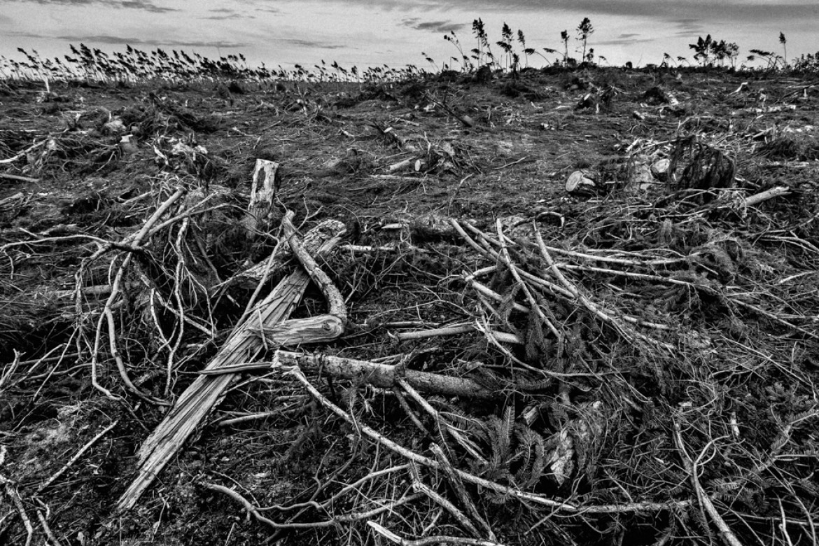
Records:
M788 55L819 50L819 0L0 0L0 55L17 47L41 56L85 43L103 51L125 44L205 56L242 53L252 64L427 66L457 55L442 37L454 30L475 47L481 17L491 40L508 23L529 47L562 48L559 35L590 17L590 47L612 64L658 63L663 52L689 57L699 35ZM577 47L572 39L569 46ZM547 55L548 56L548 55ZM579 56L579 55L577 55Z

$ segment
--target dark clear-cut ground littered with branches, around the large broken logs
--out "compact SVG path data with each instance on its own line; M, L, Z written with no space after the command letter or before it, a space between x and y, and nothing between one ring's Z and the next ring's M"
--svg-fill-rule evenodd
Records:
M0 544L817 544L817 181L815 74L0 85ZM287 349L491 395L239 373L118 511L285 210L348 312Z

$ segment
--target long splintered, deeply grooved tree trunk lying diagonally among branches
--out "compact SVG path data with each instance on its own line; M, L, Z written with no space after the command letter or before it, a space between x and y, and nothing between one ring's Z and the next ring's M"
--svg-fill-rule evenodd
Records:
M289 222L289 214L287 222ZM340 240L342 232L324 241L319 254L331 250ZM295 237L292 237L294 239ZM293 249L296 255L299 252ZM301 249L303 251L303 249ZM312 273L312 272L311 272ZM326 276L325 276L326 277ZM238 363L254 359L262 351L269 349L265 339L258 335L266 327L274 327L283 323L298 305L301 296L310 282L310 274L300 268L291 273L269 296L251 310L247 317L233 329L233 332L224 346L206 366L207 370L234 366ZM331 304L332 308L332 304ZM346 322L346 312L345 321ZM304 341L304 340L302 340ZM277 340L279 345L287 345L287 340ZM206 415L215 408L224 396L235 374L226 374L218 377L197 377L192 385L179 397L171 408L170 413L159 426L148 436L138 453L137 477L129 485L128 490L117 502L117 510L124 511L133 508L139 497L147 489L156 476L162 471L182 446L188 436L205 419Z

